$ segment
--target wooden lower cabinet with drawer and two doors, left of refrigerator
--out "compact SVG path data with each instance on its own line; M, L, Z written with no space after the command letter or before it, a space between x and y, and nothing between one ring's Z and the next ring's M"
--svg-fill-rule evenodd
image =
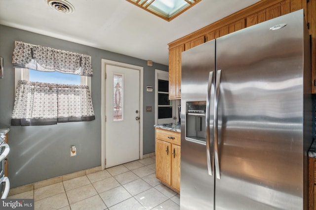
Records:
M180 192L180 133L156 128L156 177Z

